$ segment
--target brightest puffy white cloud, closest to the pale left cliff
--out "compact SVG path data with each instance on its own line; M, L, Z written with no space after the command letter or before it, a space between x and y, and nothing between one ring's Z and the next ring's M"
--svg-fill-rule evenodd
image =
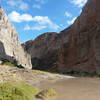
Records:
M10 21L12 22L17 22L17 23L20 23L20 22L23 22L23 21L32 21L33 18L31 15L29 14L20 14L16 11L13 11L11 12L9 15L8 15Z

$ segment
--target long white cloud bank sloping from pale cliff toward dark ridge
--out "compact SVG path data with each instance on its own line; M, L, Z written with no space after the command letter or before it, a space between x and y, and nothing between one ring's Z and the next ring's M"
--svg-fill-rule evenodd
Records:
M29 28L28 26L25 27L26 30L29 30L29 29L40 30L40 29L44 29L46 27L57 30L59 28L59 26L57 24L55 24L53 21L51 21L48 16L32 17L29 14L20 14L16 11L13 11L8 15L8 17L9 17L10 21L12 21L12 22L21 23L21 22L25 22L25 21L27 21L27 22L31 21L31 22L36 23L36 25L32 28Z

